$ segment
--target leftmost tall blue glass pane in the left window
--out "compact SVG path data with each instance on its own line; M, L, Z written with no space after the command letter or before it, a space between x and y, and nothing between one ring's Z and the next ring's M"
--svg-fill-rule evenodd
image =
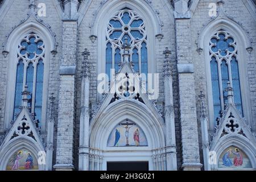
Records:
M23 76L24 76L24 64L22 63L22 60L20 60L17 65L17 71L16 71L13 119L15 114L19 113L19 106L22 105Z

